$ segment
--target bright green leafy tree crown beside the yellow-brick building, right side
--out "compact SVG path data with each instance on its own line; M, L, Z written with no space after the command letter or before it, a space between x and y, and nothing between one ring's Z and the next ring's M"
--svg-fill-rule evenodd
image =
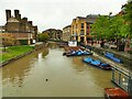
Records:
M102 40L127 37L129 35L129 25L122 15L100 15L92 24L91 34Z

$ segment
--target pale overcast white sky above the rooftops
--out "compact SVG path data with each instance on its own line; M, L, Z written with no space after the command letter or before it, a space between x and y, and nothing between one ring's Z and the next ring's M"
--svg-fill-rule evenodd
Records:
M20 10L22 18L33 21L42 32L63 29L76 16L88 14L117 14L128 0L0 0L0 25L6 24L6 10Z

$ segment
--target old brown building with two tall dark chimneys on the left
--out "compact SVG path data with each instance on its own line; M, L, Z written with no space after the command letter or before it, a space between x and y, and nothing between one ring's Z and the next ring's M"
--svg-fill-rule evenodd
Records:
M37 26L33 25L28 18L21 18L20 11L14 10L14 16L11 10L6 10L7 23L0 29L0 35L12 35L20 44L32 44L36 41Z

